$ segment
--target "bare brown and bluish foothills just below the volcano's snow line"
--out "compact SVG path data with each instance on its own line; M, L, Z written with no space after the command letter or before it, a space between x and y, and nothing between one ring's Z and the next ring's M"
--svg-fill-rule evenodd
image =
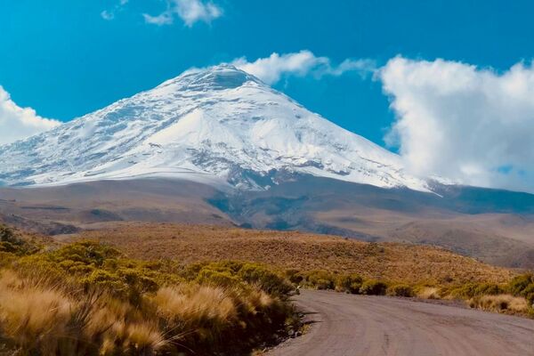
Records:
M99 223L236 224L439 246L485 263L534 267L534 196L466 187L441 193L315 177L239 194L172 179L84 182L0 188L0 222L47 235Z

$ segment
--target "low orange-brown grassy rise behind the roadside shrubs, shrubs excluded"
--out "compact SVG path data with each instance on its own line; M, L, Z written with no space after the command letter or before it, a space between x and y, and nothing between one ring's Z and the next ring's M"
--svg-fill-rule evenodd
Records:
M119 223L70 239L98 239L141 259L181 263L239 260L280 269L359 273L406 283L506 283L514 271L436 247L370 244L300 232L252 231L205 225Z

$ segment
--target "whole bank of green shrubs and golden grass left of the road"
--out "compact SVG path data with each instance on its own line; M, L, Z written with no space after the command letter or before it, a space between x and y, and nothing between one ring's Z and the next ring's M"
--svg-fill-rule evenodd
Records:
M294 286L257 263L147 262L0 228L0 353L249 354L295 334Z

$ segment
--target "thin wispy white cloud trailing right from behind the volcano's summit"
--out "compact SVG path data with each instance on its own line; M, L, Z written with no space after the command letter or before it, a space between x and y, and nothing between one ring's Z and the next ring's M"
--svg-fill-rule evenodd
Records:
M260 58L252 62L242 57L232 61L231 64L255 77L259 77L270 85L277 83L285 75L298 77L307 75L313 75L315 77L326 75L341 76L348 71L358 71L361 74L368 74L375 69L375 62L370 60L347 59L335 66L328 57L317 57L307 50L281 55L279 53L272 53L269 57Z

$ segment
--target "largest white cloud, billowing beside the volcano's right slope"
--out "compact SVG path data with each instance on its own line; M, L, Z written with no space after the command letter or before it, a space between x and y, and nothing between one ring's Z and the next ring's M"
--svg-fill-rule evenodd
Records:
M396 114L386 141L409 169L455 182L534 191L534 67L499 73L396 57L380 69Z

